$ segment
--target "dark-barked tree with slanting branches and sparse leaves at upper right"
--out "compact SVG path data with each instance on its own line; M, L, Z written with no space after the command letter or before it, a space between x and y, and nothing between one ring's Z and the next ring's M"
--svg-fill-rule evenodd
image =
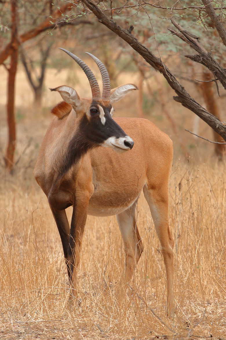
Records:
M165 10L168 11L167 17L165 17L165 22L167 22L167 25L169 24L169 20L171 20L172 24L179 30L175 31L170 29L172 35L170 36L170 40L168 40L169 44L172 44L174 48L178 47L178 41L175 40L173 35L177 35L180 39L182 39L184 42L186 42L191 48L193 48L195 51L197 51L198 55L192 55L188 56L191 60L198 62L200 64L203 64L205 67L207 67L212 73L213 78L217 78L223 85L224 88L226 88L226 73L224 70L224 66L221 65L218 62L218 56L219 56L219 46L218 44L215 44L215 37L212 35L213 27L216 27L217 33L222 38L222 41L224 42L224 35L225 30L223 29L223 25L220 21L224 20L224 10L222 6L213 7L210 1L202 1L197 4L191 4L190 6L187 5L186 7L167 7L166 5L160 6L160 5L152 5L151 3L147 3L145 1L139 1L137 5L119 5L117 7L109 6L107 7L106 4L104 7L102 5L97 6L94 2L89 0L84 0L83 3L91 10L98 18L98 20L103 23L105 26L107 26L111 31L115 32L117 35L119 35L121 38L123 38L133 49L135 49L142 57L156 70L160 71L164 77L166 78L168 84L176 91L177 97L174 97L174 100L181 102L183 106L189 108L191 111L196 113L200 118L202 118L205 122L207 122L212 129L220 134L221 141L226 140L226 128L225 124L220 121L220 119L213 116L212 113L207 112L205 108L203 108L198 102L196 102L190 95L185 91L184 87L178 82L176 77L172 74L172 72L166 67L166 65L162 62L162 58L160 56L160 48L158 45L156 45L156 50L159 53L159 58L153 55L152 52L148 49L147 46L141 44L136 37L134 37L131 32L127 29L122 28L119 26L113 19L117 19L117 21L124 21L125 22L125 15L122 14L124 10L131 11L130 12L130 18L132 16L136 15L136 18L138 15L142 15L142 17L146 17L146 20L149 21L149 24L153 31L153 39L157 41L157 35L155 34L155 31L153 29L152 24L152 18L150 14L150 8L153 12L153 7L158 8L158 10ZM214 2L216 3L216 2ZM135 8L134 8L135 7ZM149 10L148 10L149 8ZM192 11L191 11L192 10ZM184 11L182 14L178 17L178 11ZM214 15L215 11L221 11L222 15L217 16ZM110 13L110 18L105 15L105 13ZM116 14L117 13L117 14ZM120 14L119 14L120 13ZM191 15L192 13L192 15ZM204 13L204 14L203 14ZM146 15L146 16L145 16ZM186 20L184 17L186 17ZM189 20L192 22L192 32L188 32L184 30L182 26L180 26L173 17L182 18L180 22L183 20L186 22L186 28L189 24ZM168 19L168 21L166 21ZM206 34L203 34L204 40L208 40L209 44L207 46L212 46L212 51L216 52L215 58L212 57L212 55L204 48L200 43L199 39L197 38L197 35L194 34L194 31L197 30L197 19L198 20L198 33L203 33L202 31L205 31ZM131 19L130 19L131 20ZM211 24L208 24L208 21L211 21ZM143 26L145 26L145 20L142 20ZM137 22L137 20L136 20ZM141 21L140 21L141 23ZM164 21L162 27L164 27ZM201 32L200 32L201 28ZM211 33L210 33L211 31ZM211 39L209 38L211 36ZM138 38L140 38L138 36ZM162 39L164 41L164 39ZM152 40L153 41L153 40ZM205 42L205 41L204 41ZM214 47L214 48L213 48ZM185 50L187 48L183 48ZM221 46L222 49L222 46ZM183 51L185 52L185 51ZM214 112L213 112L214 113ZM223 149L223 145L221 145Z

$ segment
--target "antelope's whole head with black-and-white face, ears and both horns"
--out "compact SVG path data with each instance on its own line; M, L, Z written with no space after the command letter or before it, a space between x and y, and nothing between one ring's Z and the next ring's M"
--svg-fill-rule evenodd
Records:
M52 91L58 91L63 100L70 104L76 112L79 119L80 140L83 138L89 147L106 146L117 151L129 150L133 147L133 140L121 129L121 127L112 118L114 109L112 103L123 98L128 92L137 90L137 86L126 84L115 89L110 89L110 79L104 64L93 54L87 53L96 62L102 76L103 91L101 91L90 68L76 55L61 48L85 72L91 87L92 98L80 99L77 91L69 86L59 86Z

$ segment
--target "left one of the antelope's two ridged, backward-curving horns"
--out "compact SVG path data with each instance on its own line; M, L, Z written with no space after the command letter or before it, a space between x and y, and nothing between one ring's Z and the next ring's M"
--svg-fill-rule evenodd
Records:
M75 54L65 50L64 48L60 48L60 50L66 52L83 69L83 71L86 74L86 77L88 78L88 81L89 81L89 84L90 84L90 87L91 87L92 97L95 98L95 99L101 99L100 87L98 85L98 82L96 80L95 75L90 70L90 68Z

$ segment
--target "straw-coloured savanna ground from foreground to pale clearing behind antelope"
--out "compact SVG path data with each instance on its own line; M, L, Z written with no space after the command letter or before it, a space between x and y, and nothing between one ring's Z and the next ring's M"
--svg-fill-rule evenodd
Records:
M87 81L77 78L75 85L70 72L49 69L46 83L49 87L74 85L81 96L85 95ZM76 72L83 77L78 69ZM6 140L5 77L2 71L2 152ZM119 83L136 81L136 74L125 73ZM51 119L49 107L60 98L46 90L44 109L34 110L29 87L20 71L16 103L18 162L13 176L5 173L1 156L1 340L226 338L225 164L217 162L211 144L184 132L184 128L191 127L194 115L173 102L172 91L162 84L167 109L179 126L180 142L190 153L184 157L178 137L174 136L167 118L161 115L159 104L150 104L148 118L174 142L169 186L169 223L175 239L174 319L168 320L165 315L165 268L143 196L139 200L137 220L145 249L131 282L133 290L116 300L114 292L124 257L116 218L88 216L78 275L82 301L75 310L67 309L68 282L60 237L46 197L32 175ZM153 82L154 90L155 86ZM116 115L136 116L136 96L115 105ZM223 108L223 100L221 105ZM211 136L202 122L199 133ZM69 219L71 212L71 208L67 209Z

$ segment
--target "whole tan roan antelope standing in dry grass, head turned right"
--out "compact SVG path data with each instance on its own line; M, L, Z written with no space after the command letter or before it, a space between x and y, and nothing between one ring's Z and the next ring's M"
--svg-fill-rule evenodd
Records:
M45 134L34 175L48 198L60 233L71 296L77 296L76 276L87 214L117 215L125 245L123 277L129 282L143 251L135 217L136 203L143 189L161 243L166 267L167 312L172 315L174 242L168 225L172 141L146 119L112 119L112 103L137 87L126 84L111 90L106 67L88 53L102 75L101 96L90 68L76 55L62 50L85 72L92 98L81 99L76 90L68 86L51 89L58 91L64 101L52 109L56 117ZM70 227L65 212L69 206L73 206Z

